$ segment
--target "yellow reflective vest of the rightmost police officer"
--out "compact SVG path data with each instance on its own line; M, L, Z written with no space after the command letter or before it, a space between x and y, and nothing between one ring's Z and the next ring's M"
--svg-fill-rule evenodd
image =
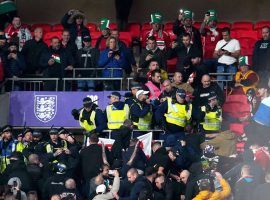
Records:
M201 110L203 112L205 112L205 110L206 110L205 106L203 106L201 108ZM218 113L218 111L205 113L204 122L201 123L203 125L204 130L206 130L206 131L220 130L222 117L221 117L221 114L220 114L220 116L217 117L217 113Z

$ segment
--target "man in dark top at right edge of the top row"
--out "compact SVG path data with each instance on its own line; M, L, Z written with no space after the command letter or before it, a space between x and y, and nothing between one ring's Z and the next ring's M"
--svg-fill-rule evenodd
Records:
M260 76L269 74L270 56L270 27L262 27L262 39L255 43L252 63L254 71Z

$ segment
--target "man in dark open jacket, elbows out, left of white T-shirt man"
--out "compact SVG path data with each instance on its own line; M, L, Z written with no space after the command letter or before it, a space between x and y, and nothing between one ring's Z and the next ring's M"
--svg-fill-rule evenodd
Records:
M184 60L193 55L202 57L202 51L191 42L191 35L183 33L181 40L172 42L171 48L167 52L167 58L177 58L176 69L183 70Z

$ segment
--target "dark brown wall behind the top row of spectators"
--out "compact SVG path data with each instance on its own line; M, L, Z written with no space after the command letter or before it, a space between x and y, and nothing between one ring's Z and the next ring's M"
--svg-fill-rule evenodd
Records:
M124 0L123 0L124 1ZM83 10L89 22L101 17L115 21L114 0L17 0L19 13L26 23L59 23L72 8ZM133 0L130 21L146 22L151 12L163 13L165 21L176 18L179 8L190 8L201 21L207 9L216 9L220 20L270 20L269 0Z

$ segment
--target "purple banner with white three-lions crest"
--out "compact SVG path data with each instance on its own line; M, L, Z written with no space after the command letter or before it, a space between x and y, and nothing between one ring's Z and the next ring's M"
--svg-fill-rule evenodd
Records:
M90 97L104 110L111 92L11 92L9 123L12 126L79 127L71 110L82 107L82 100ZM124 94L124 91L120 92Z

